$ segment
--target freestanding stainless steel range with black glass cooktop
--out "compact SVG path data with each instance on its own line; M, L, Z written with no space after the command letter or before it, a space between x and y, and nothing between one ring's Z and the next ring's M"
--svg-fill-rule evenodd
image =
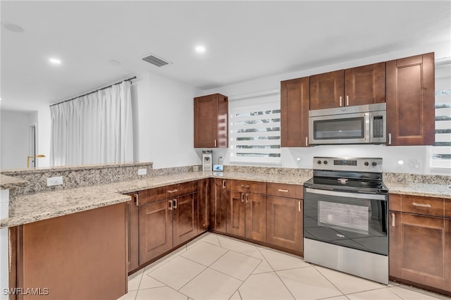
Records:
M388 284L382 158L314 157L304 183L304 261Z

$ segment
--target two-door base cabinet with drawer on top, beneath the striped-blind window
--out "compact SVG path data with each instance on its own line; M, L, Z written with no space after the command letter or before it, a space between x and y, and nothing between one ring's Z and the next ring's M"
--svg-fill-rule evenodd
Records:
M266 242L266 183L228 180L226 189L226 232Z

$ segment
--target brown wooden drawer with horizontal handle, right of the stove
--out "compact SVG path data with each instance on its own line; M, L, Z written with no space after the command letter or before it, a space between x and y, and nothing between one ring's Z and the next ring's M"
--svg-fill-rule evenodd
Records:
M416 213L419 215L445 216L443 198L390 194L390 211Z

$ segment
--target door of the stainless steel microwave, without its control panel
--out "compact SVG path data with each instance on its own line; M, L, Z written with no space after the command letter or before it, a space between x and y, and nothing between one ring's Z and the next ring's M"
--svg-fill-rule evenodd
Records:
M369 143L369 113L309 117L309 141L310 144Z

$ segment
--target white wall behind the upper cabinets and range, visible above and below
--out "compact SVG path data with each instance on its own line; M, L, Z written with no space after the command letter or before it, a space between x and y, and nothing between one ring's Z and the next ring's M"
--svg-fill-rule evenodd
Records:
M326 73L333 70L352 68L369 63L390 61L397 58L435 52L435 59L451 56L450 43L431 44L421 49L404 49L393 51L369 58L360 58L355 61L345 61L334 65L323 65L318 68L299 70L293 73L284 73L263 77L258 80L240 82L218 89L204 91L204 94L221 93L226 96L280 89L281 80L290 80L314 74ZM239 100L237 100L239 101ZM282 149L281 167L285 168L312 168L314 156L357 156L357 157L381 157L385 172L432 174L430 164L431 146L375 146L375 145L345 145L345 146L314 146L308 148L284 148ZM228 151L225 149L214 150L214 162L222 156L225 164L229 163ZM300 161L297 161L300 158ZM404 165L397 164L402 159Z

